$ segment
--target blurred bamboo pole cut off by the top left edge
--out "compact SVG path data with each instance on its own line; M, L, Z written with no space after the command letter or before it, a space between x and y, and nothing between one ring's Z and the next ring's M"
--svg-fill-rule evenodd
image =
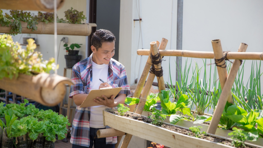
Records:
M65 0L57 0L60 9ZM0 0L0 9L54 11L54 0Z

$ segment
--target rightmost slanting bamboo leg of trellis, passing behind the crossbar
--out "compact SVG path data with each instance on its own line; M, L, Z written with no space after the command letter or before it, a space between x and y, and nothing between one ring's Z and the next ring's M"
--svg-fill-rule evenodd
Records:
M247 49L247 45L245 43L241 43L238 51L239 52L245 52L246 49ZM218 103L216 105L214 115L213 115L212 120L210 122L210 125L208 127L207 133L215 134L215 132L216 132L219 120L222 116L223 110L224 110L225 105L226 105L227 98L229 96L229 93L231 92L231 88L234 84L234 81L235 81L235 78L236 78L236 75L237 75L237 72L239 70L240 65L241 65L240 60L234 60L233 65L231 67L231 70L227 76L225 86L222 89L222 93L221 93L219 100L218 100Z

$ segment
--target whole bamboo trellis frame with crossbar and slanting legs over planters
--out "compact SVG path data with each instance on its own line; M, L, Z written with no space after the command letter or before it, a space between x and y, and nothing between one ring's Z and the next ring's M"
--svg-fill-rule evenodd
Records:
M168 40L163 38L162 42L163 41L165 41L166 45L167 45ZM161 42L161 45L164 44L162 42ZM212 59L214 57L219 58L220 56L222 57L222 56L224 56L226 54L226 53L222 52L222 47L221 47L220 40L213 40L212 41L214 52L187 51L187 50L183 50L183 51L159 50L158 51L157 48L156 48L156 47L158 47L157 46L158 45L158 41L157 42L151 42L150 45L151 45L150 50L137 50L137 54L138 55L149 55L149 57L148 57L148 60L146 62L146 65L144 67L143 73L142 73L142 75L140 77L140 80L138 82L138 85L136 87L136 90L135 90L135 93L134 93L133 97L137 97L137 98L139 97L139 95L141 93L141 90L142 90L142 88L144 86L145 80L146 80L146 78L148 76L148 73L149 73L149 70L150 70L150 65L151 65L150 53L152 53L153 55L156 55L159 52L161 56L183 56L183 57L210 58L210 59ZM166 45L165 45L165 47L166 47ZM164 47L164 49L165 49L165 47ZM233 86L233 83L234 83L237 71L239 69L239 66L241 65L241 61L240 60L263 60L263 52L245 52L246 48L247 48L247 45L245 43L241 43L240 47L239 47L239 50L238 50L239 52L228 52L227 53L227 59L234 59L235 60L233 65L232 65L232 67L231 67L231 70L230 70L228 75L227 74L225 75L224 71L219 72L219 73L221 73L221 74L219 74L219 75L221 75L220 76L221 80L222 80L222 78L224 78L222 80L222 82L225 81L225 83L224 83L225 87L222 88L222 93L221 93L221 96L219 98L218 105L217 105L216 110L215 110L215 112L213 114L212 121L210 122L208 131L207 131L210 134L215 134L216 127L218 126L220 117L222 115L222 111L223 111L222 108L225 107L226 101L227 100L231 101L228 98L229 98L229 94L230 94L231 88ZM156 52L156 50L157 50L157 52ZM217 54L219 56L217 56ZM220 65L220 63L219 63L219 65ZM144 95L149 93L147 87L150 87L151 83L153 82L152 79L154 79L154 76L151 76L151 75L152 75L152 73L149 73L149 77L150 77L151 80L149 80L149 81L147 80L146 81L145 90L143 92ZM148 79L149 79L149 77L148 77ZM221 82L221 80L220 80L220 82ZM160 81L159 81L159 83L160 83ZM164 83L164 81L161 82L161 83ZM159 85L159 91L160 90L165 90L165 87L161 87ZM142 95L142 97L144 95ZM139 102L138 108L136 110L137 114L141 114L142 113L143 107L141 107L141 106L145 105L145 98L143 97L140 100L142 100L142 101ZM130 109L131 109L132 112L134 110L134 107L135 107L135 105L130 106ZM111 133L111 135L112 135L112 133ZM124 138L124 141L123 141L123 143L121 145L121 148L127 148L128 147L128 144L129 144L129 142L131 140L131 137L132 137L132 135L126 134L126 136ZM115 144L115 147L118 147L118 145L119 144L117 144L117 145Z

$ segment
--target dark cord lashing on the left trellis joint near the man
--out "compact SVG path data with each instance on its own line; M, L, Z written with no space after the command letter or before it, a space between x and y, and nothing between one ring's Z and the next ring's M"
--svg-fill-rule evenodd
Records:
M159 49L158 49L159 51ZM161 64L162 61L165 61L165 60L162 60L164 56L160 56L160 53L158 52L157 55L153 56L151 54L151 62L152 62L152 65L151 65L151 69L150 69L150 73L153 73L155 74L156 77L162 77L163 76L163 67L161 66L161 68L155 68L154 65L158 65L158 64ZM159 60L159 61L156 61L156 60ZM158 86L159 86L159 79L158 79Z

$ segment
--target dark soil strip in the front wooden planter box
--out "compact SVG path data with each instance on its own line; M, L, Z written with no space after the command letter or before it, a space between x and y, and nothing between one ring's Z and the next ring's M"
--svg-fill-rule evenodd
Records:
M109 112L112 113L112 114L118 115L118 111L109 111ZM125 115L123 115L123 117L127 117L127 118L130 118L130 119L143 121L143 122L146 122L146 123L151 123L151 121L152 121L148 117L143 117L143 116L140 116L140 115L131 114L129 112L125 112ZM168 130L171 130L171 131L175 131L175 132L178 132L178 133L181 133L181 134L184 134L184 135L189 135L189 136L194 136L195 137L194 133L191 132L190 130L181 129L179 127L175 127L175 126L171 126L171 125L167 125L167 124L162 124L160 127L163 127L165 129L168 129ZM218 138L214 138L214 137L207 136L207 135L201 136L199 138L231 146L231 142L227 141L227 140L218 139ZM245 146L245 147L242 147L242 148L252 148L252 147Z

